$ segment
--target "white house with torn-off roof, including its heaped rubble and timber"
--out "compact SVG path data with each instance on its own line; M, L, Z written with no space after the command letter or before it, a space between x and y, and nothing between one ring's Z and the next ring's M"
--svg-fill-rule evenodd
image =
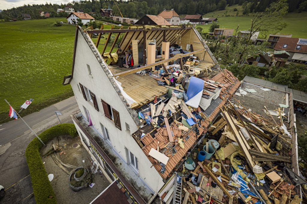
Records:
M107 53L110 37L99 44L102 33L116 34ZM97 43L91 39L93 34L98 34ZM120 35L121 42L116 42ZM288 114L290 126L282 123L280 127L259 120L262 117L242 103L231 102L234 96L252 91L242 87L240 92L241 82L220 68L193 26L134 25L111 30L77 26L72 74L63 81L68 84L80 108L72 119L89 152L92 170L116 182L127 203L155 199L159 203L238 203L243 198L246 203L260 203L270 187L259 195L258 177L249 184L245 173L275 172L281 168L273 161L282 157L285 167L299 174L297 146L291 145L296 142L291 105L279 111L281 118ZM288 97L291 104L290 93ZM271 140L274 144L286 141L276 150L274 145L268 147ZM274 151L281 155L274 156ZM273 158L260 160L259 155ZM269 168L265 161L270 161ZM291 183L289 199L300 199L296 185L301 183ZM278 196L272 193L267 199ZM101 203L104 197L102 193L92 203Z

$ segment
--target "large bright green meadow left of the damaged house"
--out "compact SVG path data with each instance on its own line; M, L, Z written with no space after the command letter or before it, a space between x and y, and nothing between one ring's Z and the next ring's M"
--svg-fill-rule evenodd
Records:
M57 20L66 22L65 18ZM54 18L0 23L0 123L6 122L2 120L9 114L4 99L19 110L25 100L33 98L21 111L26 115L73 96L71 86L62 85L62 81L64 75L71 74L76 28L56 27L54 23ZM99 50L105 39L101 39Z

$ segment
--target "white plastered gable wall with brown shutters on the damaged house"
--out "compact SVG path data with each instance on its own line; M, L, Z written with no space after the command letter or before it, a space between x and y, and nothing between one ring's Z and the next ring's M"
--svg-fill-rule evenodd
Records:
M89 37L87 37L87 40L92 43ZM94 44L92 45L92 49L97 51ZM99 60L101 60L98 51L97 55L99 56ZM88 72L87 65L90 66L91 75ZM105 63L104 66L106 66ZM75 56L75 68L71 86L74 90L81 113L86 116L84 108L87 109L94 128L98 130L100 134L103 134L103 132L99 122L107 128L111 145L120 156L119 158L124 160L123 162L129 163L125 148L129 149L130 152L138 158L138 176L141 177L141 179L145 181L154 192L157 192L164 185L163 180L155 168L150 168L152 164L132 138L131 134L138 130L138 127L108 79L104 69L106 68L102 68L87 41L84 39L84 36L79 32ZM92 102L84 99L78 88L79 83L95 94L99 111L95 110ZM122 130L116 128L114 122L105 117L101 99L119 112ZM126 123L130 126L130 131L126 130Z

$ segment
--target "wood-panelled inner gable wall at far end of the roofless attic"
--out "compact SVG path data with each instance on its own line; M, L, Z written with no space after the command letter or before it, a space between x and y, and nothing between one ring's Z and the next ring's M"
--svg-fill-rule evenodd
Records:
M188 32L181 36L181 43L179 43L179 45L182 46L183 50L186 50L187 44L193 45L194 51L205 49L204 45L201 43L193 29L189 29ZM204 60L204 55L205 52L195 54L195 56L200 60Z

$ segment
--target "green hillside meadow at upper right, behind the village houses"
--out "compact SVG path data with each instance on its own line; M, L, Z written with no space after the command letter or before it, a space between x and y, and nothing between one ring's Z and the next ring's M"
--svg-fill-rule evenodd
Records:
M237 8L239 15L236 16L236 11L233 11L234 8ZM217 17L218 24L220 28L237 28L239 25L240 30L247 30L250 28L251 19L253 18L253 13L250 13L250 16L242 16L241 6L230 6L227 8L228 12L225 17L226 10L214 11L205 14L203 17ZM283 21L287 22L289 25L282 29L281 34L293 34L293 38L307 38L307 12L302 13L288 13ZM203 32L208 32L210 25L197 25L197 27L202 27ZM264 34L260 33L258 38L267 38Z

